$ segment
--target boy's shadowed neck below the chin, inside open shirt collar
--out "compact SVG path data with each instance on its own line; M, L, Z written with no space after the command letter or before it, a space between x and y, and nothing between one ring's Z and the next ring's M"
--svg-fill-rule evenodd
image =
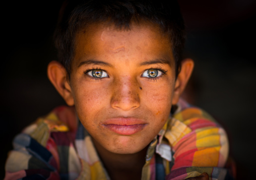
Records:
M94 139L93 143L112 180L141 179L148 146L134 154L117 154L108 151Z

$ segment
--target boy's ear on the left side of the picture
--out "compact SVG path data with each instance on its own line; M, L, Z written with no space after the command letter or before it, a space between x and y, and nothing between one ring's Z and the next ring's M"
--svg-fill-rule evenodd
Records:
M74 98L66 69L57 61L51 61L47 67L47 76L69 106L74 105Z

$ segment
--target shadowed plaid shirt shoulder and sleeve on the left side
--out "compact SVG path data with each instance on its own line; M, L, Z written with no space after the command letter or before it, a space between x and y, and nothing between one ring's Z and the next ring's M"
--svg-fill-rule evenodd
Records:
M19 174L19 178L28 174L55 177L66 164L59 155L65 155L63 152L70 149L75 139L76 126L73 107L60 106L38 118L14 138L14 149L6 161L6 178L12 179L14 174Z

